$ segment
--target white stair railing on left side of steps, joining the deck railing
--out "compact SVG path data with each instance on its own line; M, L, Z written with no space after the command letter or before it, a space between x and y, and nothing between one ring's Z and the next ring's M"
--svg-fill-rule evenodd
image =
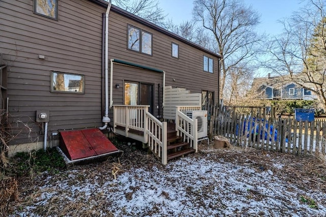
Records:
M148 144L148 148L150 148L154 155L161 160L163 165L168 163L167 129L167 122L159 121L151 113L146 111L145 141Z

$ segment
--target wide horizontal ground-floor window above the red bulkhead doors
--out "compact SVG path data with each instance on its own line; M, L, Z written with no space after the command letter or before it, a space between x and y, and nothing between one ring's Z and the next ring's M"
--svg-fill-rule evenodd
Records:
M84 81L84 75L52 71L51 92L84 94Z

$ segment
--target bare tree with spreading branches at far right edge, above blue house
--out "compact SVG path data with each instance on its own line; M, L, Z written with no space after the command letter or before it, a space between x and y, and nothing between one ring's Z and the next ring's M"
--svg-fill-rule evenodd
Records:
M314 92L326 109L326 11L324 0L307 5L283 20L284 33L268 48L266 67Z

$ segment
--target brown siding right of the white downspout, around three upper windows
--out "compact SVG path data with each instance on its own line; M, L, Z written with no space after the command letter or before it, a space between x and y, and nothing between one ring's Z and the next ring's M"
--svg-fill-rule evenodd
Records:
M153 35L152 56L135 52L127 49L127 25L141 28ZM202 90L214 91L215 102L218 99L219 86L219 68L218 58L205 53L195 47L187 45L181 41L171 38L165 34L138 22L127 20L122 15L110 12L109 15L109 58L116 58L124 61L130 61L135 64L144 65L166 72L166 86L184 87L192 93L200 93ZM179 45L179 58L173 58L171 55L171 43ZM203 71L203 55L214 59L214 73ZM126 77L124 74L119 75L125 79L152 80L151 73L144 73L146 70L140 70L132 74L132 78ZM115 72L115 74L117 74ZM129 76L129 74L128 74ZM150 77L147 77L150 76ZM157 80L162 84L162 78ZM175 81L174 81L175 80ZM114 76L114 83L122 83L122 78ZM156 82L156 81L155 81ZM121 90L122 94L122 90ZM158 94L156 87L155 94ZM121 95L115 97L121 98ZM156 97L155 97L156 98ZM156 102L157 103L157 102ZM157 105L157 104L155 104ZM156 115L157 113L155 113Z

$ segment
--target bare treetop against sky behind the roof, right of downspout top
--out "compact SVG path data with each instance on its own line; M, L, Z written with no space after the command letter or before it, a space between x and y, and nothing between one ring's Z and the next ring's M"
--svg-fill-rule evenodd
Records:
M113 4L157 25L164 25L166 15L158 0L114 0Z

